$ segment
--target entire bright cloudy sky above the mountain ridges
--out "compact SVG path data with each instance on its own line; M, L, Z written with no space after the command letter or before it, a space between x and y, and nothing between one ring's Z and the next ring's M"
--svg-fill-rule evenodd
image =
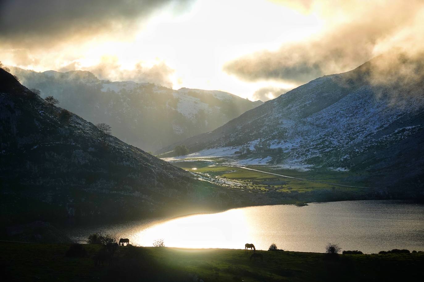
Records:
M393 48L422 0L0 0L0 60L266 101Z

